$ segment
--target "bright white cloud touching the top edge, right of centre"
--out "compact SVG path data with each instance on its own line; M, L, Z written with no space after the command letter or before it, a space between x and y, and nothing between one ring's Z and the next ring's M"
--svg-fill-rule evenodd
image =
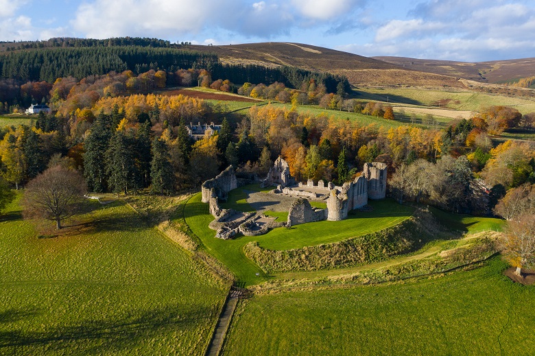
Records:
M355 0L292 0L300 14L309 19L331 20L354 10L361 1Z

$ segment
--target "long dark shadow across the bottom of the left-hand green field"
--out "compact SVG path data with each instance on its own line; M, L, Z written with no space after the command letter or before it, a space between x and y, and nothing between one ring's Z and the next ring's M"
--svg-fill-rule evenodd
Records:
M0 354L9 353L9 348L42 348L49 345L56 350L76 350L77 354L117 353L128 350L139 342L150 342L171 330L195 327L202 316L211 314L207 307L165 307L145 311L138 316L119 319L84 321L77 325L62 326L46 331L27 331L27 328L0 331ZM6 322L33 318L32 313L11 309ZM12 350L14 351L14 350Z

